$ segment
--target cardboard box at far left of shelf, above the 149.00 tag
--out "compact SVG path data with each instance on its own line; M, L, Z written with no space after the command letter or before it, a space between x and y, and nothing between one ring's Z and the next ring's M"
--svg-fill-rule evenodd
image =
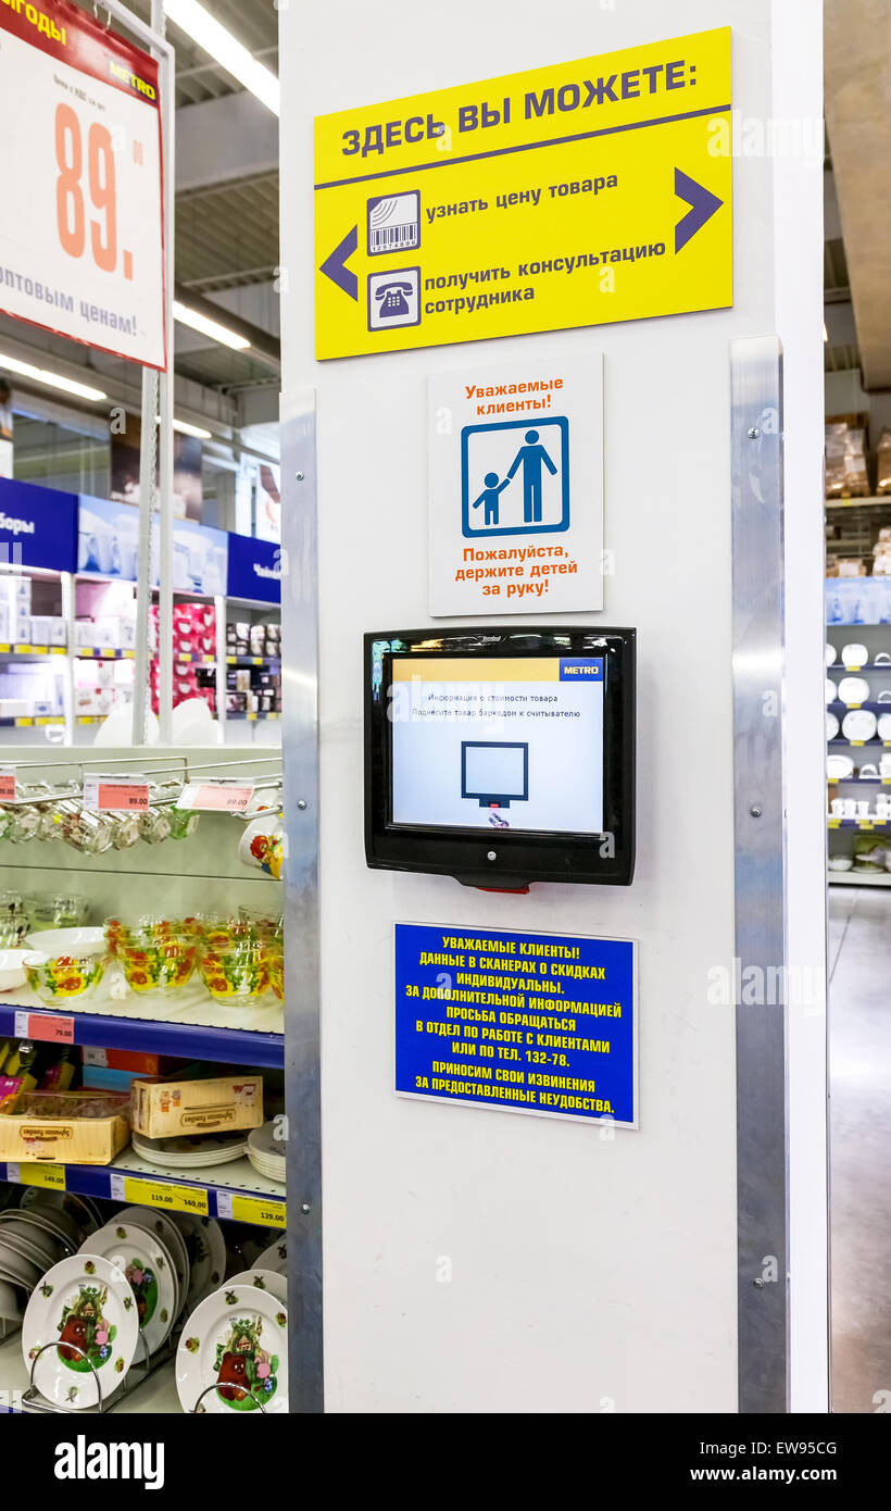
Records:
M94 1115L86 1117L92 1106ZM95 1115L98 1114L98 1115ZM110 1165L130 1142L128 1097L95 1091L30 1091L0 1115L0 1159Z

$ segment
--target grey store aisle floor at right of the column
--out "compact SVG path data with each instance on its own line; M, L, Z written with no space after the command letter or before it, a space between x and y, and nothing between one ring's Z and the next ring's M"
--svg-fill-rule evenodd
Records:
M891 888L829 887L834 1411L891 1408L889 1065Z

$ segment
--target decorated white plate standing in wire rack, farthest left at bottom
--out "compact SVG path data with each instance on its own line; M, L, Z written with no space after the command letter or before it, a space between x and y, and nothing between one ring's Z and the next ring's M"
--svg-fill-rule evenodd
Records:
M137 1340L136 1302L124 1271L88 1254L74 1254L47 1271L21 1325L21 1352L29 1372L33 1364L36 1389L72 1411L95 1407L100 1386L103 1399L118 1389ZM59 1342L77 1345L88 1358L72 1354L65 1360L57 1348L39 1354L45 1343Z

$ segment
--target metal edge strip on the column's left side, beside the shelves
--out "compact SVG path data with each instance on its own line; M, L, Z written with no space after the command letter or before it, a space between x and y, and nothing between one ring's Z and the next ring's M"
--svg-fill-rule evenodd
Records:
M319 1012L316 393L281 399L285 1109L291 1411L325 1408Z

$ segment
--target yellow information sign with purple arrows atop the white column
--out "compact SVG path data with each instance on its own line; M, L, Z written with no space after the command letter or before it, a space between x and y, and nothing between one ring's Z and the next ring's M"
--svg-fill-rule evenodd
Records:
M316 355L732 304L731 30L316 119Z

